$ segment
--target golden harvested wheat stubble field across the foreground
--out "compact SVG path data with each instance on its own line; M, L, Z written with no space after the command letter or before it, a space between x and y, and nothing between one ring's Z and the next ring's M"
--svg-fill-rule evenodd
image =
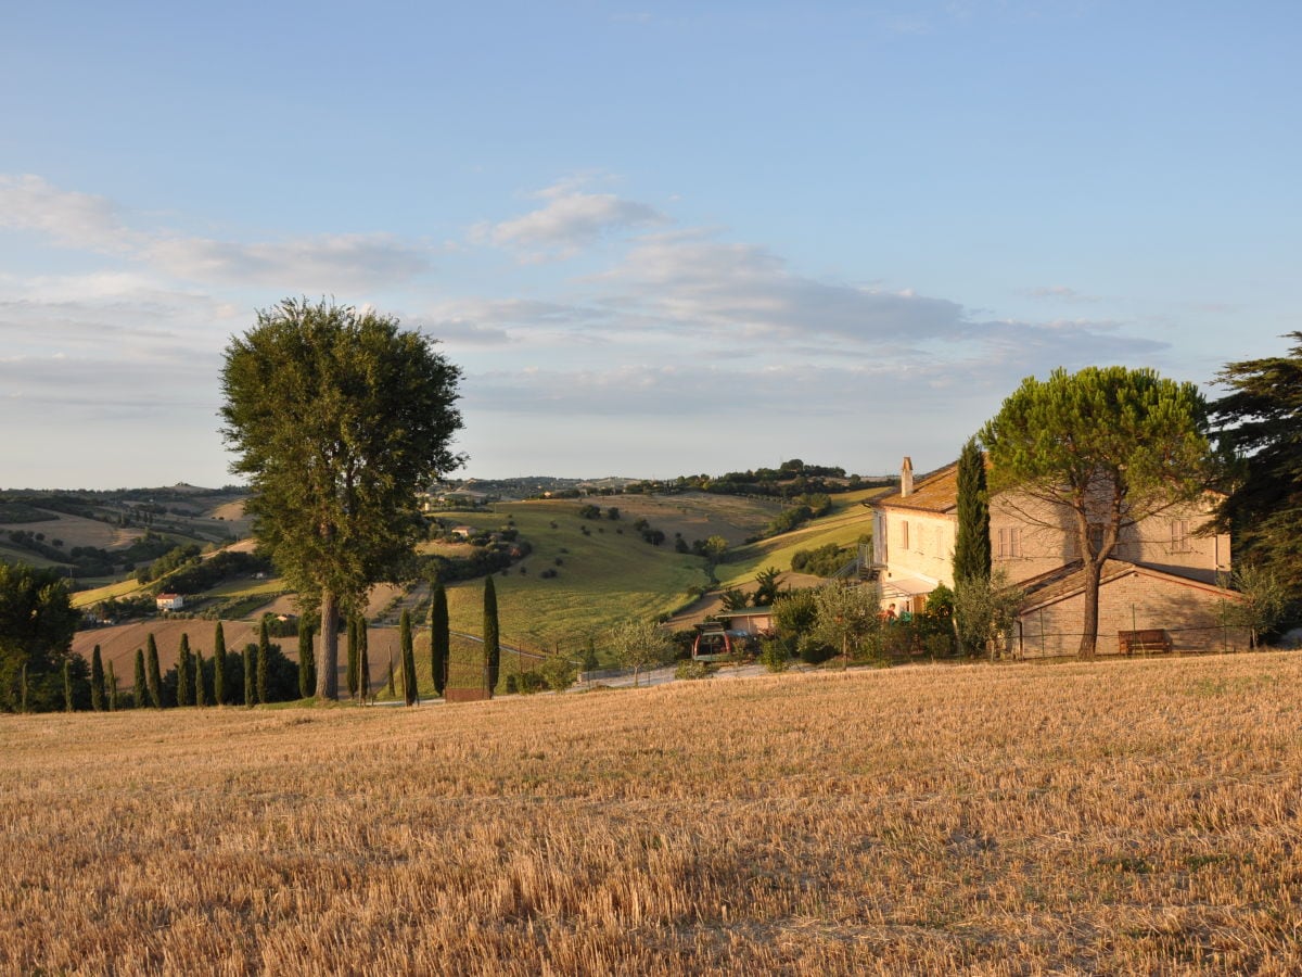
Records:
M7 716L0 970L1302 972L1302 657Z

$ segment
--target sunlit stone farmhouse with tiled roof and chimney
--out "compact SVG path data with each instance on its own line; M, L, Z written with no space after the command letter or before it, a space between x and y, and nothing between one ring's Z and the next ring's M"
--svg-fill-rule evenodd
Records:
M940 584L952 588L958 525L958 464L914 481L904 460L900 491L874 502L872 565L883 607L917 614ZM1122 530L1099 586L1099 653L1219 651L1243 647L1242 629L1224 628L1219 611L1240 595L1217 585L1230 569L1226 534L1199 534L1204 505L1172 507ZM1101 528L1100 528L1101 531ZM1069 655L1081 641L1085 586L1074 533L1026 496L990 503L991 561L1026 594L1012 650L1025 657Z

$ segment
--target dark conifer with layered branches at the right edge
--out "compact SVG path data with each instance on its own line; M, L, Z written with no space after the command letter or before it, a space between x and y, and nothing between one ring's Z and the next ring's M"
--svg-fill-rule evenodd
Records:
M1238 457L1217 528L1234 548L1302 598L1302 332L1288 356L1228 363L1216 380L1230 393L1212 404L1220 447Z

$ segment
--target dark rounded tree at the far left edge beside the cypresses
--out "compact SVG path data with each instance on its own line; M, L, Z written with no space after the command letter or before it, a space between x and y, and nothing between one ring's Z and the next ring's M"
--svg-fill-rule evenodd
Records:
M64 580L55 569L0 563L0 709L57 709L60 671L77 629Z

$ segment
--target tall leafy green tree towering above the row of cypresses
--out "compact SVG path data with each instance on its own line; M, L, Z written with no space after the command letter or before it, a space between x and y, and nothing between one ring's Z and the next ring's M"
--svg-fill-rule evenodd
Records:
M322 615L316 694L339 694L340 606L402 578L417 491L457 468L460 370L393 318L285 300L227 348L221 429L254 531Z

